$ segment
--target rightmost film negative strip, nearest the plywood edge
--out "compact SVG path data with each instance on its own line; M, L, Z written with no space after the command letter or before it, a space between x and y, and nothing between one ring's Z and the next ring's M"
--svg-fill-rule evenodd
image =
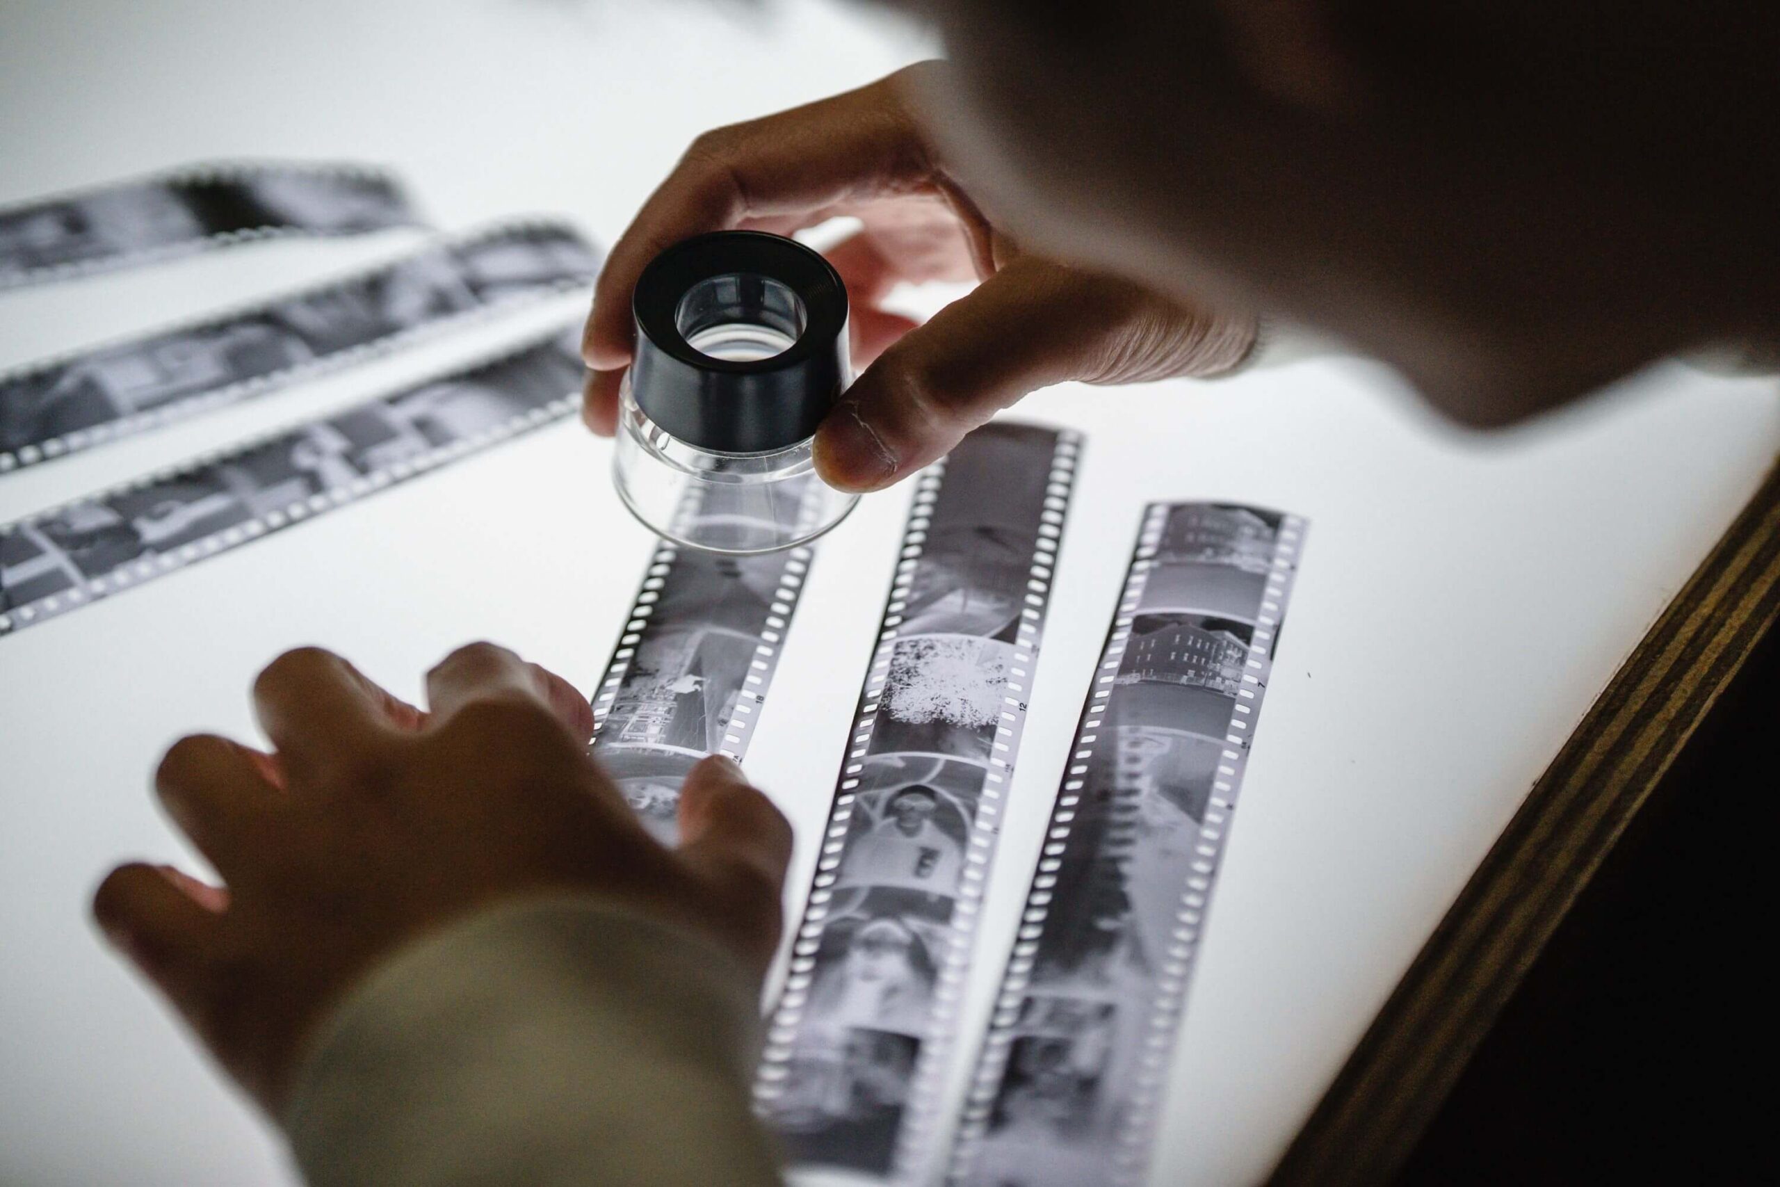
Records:
M1257 507L1145 513L951 1183L1141 1180L1303 539Z

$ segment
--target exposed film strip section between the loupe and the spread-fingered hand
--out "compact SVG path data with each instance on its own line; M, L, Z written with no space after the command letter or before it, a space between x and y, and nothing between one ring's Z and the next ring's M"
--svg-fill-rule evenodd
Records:
M726 753L737 712L760 712L806 557L806 550L726 557L680 548L666 573L644 580L646 625L593 751L657 838L678 836L687 772L707 755Z

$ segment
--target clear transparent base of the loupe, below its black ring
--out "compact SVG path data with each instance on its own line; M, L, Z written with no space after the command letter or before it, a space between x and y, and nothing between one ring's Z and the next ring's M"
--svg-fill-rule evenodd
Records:
M815 477L812 441L764 454L721 454L671 436L619 392L618 497L657 536L748 555L808 543L860 502Z

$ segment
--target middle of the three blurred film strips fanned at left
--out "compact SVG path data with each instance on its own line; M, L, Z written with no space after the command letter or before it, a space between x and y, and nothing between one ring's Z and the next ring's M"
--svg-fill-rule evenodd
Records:
M0 374L0 473L388 354L582 288L595 251L509 222L222 315Z

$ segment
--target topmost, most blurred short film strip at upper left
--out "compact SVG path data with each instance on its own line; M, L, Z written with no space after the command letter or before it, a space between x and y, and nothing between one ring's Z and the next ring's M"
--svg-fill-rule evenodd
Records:
M384 171L217 162L0 206L0 290L287 235L418 226Z

